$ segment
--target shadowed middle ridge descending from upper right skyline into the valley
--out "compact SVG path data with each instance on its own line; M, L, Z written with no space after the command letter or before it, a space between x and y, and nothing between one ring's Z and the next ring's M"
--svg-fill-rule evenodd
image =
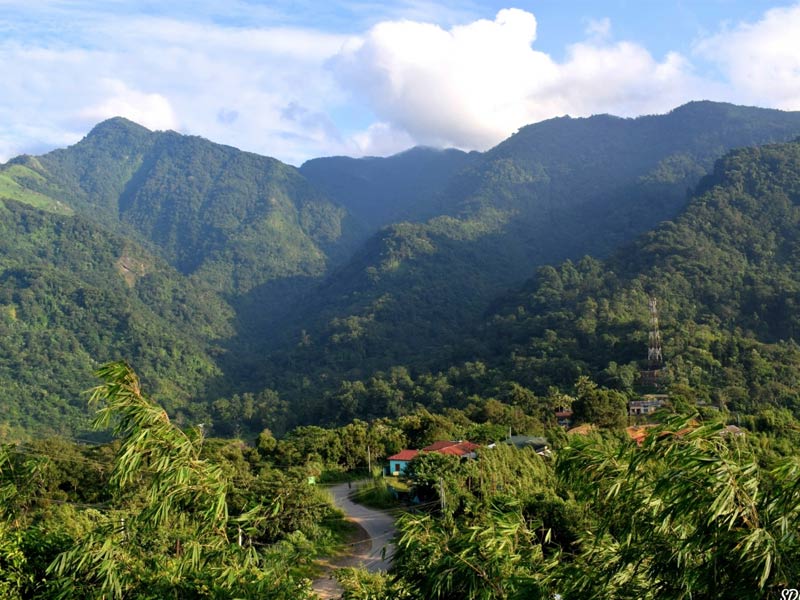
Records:
M439 216L387 226L320 286L291 321L300 346L276 356L276 377L297 364L360 377L468 355L464 328L538 266L610 253L676 216L727 149L798 134L800 113L712 102L525 127L450 180Z

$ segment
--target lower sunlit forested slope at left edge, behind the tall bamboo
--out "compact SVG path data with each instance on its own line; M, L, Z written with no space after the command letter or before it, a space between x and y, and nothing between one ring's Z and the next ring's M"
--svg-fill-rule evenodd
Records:
M139 365L181 413L222 373L233 311L202 283L80 217L0 201L0 436L84 429L103 357Z

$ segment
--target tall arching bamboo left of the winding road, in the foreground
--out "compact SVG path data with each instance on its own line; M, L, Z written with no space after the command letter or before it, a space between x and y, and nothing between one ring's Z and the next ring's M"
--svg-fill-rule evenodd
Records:
M114 510L50 566L60 594L122 598L145 595L304 598L293 579L291 544L260 552L239 540L263 531L282 504L229 513L231 482L201 456L199 430L184 432L141 391L124 363L108 363L92 391L95 426L121 438L110 484Z

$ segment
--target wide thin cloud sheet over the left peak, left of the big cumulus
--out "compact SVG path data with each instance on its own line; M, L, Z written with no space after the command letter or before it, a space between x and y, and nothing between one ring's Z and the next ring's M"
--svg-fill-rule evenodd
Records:
M325 69L344 36L135 16L71 26L69 40L0 38L0 161L116 115L295 164L345 147L327 117L345 96Z

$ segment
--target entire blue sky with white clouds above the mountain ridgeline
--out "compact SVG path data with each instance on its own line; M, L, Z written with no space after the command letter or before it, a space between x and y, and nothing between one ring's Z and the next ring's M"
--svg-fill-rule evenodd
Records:
M483 150L569 114L800 110L800 4L0 0L0 161L122 115L275 156Z

